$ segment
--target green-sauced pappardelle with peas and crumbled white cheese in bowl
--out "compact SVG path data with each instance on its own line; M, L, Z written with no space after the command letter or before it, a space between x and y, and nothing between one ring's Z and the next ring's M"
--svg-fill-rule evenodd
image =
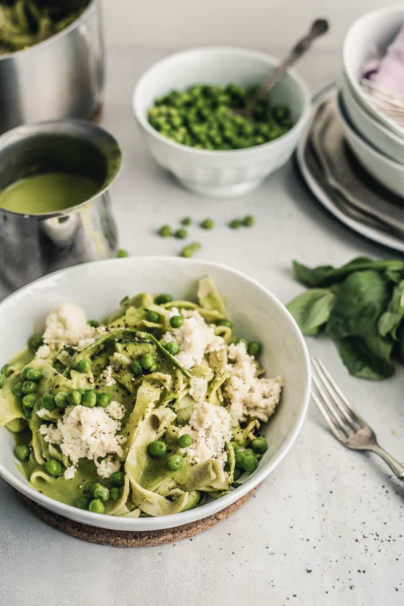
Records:
M114 516L162 516L216 499L256 470L283 379L237 339L213 281L197 303L149 293L99 324L76 305L0 375L0 425L30 484Z

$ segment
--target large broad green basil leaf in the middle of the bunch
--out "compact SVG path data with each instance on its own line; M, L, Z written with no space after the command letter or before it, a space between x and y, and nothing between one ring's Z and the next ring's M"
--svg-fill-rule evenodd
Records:
M334 339L376 334L377 321L389 299L382 273L355 271L340 284L326 332Z

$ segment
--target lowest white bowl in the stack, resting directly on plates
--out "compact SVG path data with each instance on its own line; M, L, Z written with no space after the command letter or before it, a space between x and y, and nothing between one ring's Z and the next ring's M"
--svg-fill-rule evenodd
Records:
M346 116L340 95L336 96L336 110L343 135L360 164L384 187L404 198L404 164L387 158L356 132Z

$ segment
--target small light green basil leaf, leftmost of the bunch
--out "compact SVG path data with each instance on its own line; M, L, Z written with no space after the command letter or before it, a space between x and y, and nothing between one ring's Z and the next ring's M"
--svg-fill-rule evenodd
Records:
M335 295L328 288L311 288L297 296L286 308L293 315L303 335L318 335L333 309Z

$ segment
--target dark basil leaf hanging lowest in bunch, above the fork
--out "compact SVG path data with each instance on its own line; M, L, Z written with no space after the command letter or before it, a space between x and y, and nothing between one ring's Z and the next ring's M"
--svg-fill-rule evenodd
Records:
M341 339L337 345L340 358L350 375L380 381L391 377L396 370L394 364L375 355L360 337Z

